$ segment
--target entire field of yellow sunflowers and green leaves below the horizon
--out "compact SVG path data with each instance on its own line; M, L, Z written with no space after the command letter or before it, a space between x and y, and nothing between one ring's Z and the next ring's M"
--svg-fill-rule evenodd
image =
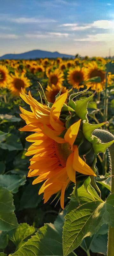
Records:
M0 256L114 255L114 60L0 61Z

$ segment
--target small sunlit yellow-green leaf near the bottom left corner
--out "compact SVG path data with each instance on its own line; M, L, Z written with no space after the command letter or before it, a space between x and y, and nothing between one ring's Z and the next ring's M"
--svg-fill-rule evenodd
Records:
M22 242L33 233L36 229L33 226L29 226L27 223L21 223L16 229L12 229L8 232L9 239L16 245L16 248L20 248Z

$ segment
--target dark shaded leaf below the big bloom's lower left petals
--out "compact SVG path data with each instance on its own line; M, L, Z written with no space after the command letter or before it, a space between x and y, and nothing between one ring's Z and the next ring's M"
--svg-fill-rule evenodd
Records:
M38 195L38 190L41 184L32 185L31 183L25 186L23 195L20 199L19 210L27 208L35 208L41 202L43 196Z

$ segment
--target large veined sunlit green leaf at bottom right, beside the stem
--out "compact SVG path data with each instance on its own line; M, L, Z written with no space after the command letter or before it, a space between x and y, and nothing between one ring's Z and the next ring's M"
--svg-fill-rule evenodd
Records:
M85 192L85 197L87 196ZM64 256L75 250L86 236L92 236L104 224L114 227L114 194L107 197L105 202L100 200L88 202L79 197L80 203L65 216L63 231ZM73 206L73 204L72 204ZM71 208L71 207L70 207Z

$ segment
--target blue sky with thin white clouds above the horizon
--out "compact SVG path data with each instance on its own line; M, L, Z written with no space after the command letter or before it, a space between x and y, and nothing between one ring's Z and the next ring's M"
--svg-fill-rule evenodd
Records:
M0 56L33 49L114 55L114 1L0 0Z

